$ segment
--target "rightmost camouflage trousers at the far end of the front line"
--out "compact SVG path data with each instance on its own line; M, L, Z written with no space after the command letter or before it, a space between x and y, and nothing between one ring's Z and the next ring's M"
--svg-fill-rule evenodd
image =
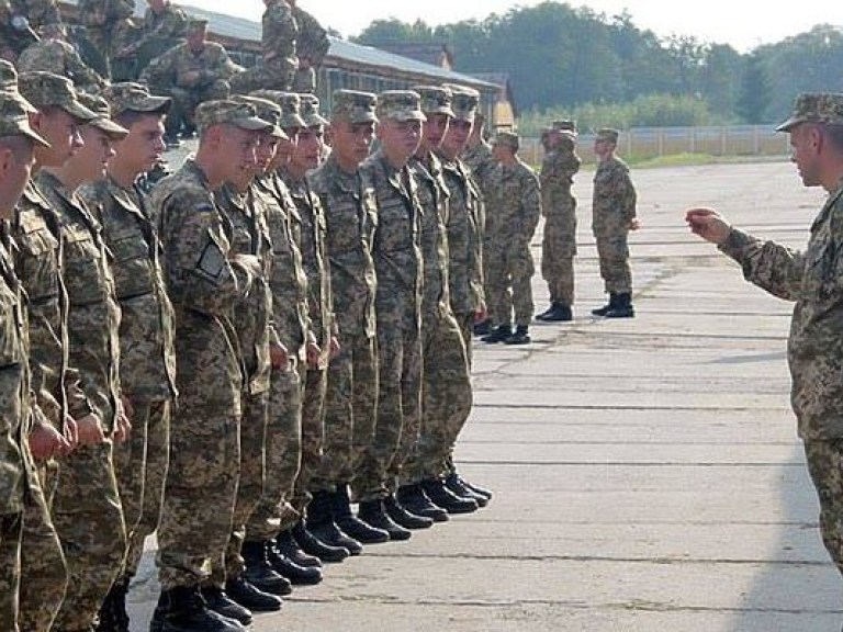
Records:
M472 406L469 360L460 325L452 314L422 324L422 429L404 463L401 484L438 478Z

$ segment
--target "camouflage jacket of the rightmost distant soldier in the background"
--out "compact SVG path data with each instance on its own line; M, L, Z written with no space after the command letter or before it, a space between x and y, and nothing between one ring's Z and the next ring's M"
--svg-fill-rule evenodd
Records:
M597 166L593 200L592 230L595 236L626 235L629 222L636 216L636 188L623 160L612 157Z

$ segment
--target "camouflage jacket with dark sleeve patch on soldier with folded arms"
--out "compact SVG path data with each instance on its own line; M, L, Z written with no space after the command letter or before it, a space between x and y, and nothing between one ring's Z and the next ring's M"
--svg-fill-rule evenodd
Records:
M224 216L194 159L155 185L151 206L176 313L179 402L239 416L243 366L232 316L251 289L250 267L232 256Z

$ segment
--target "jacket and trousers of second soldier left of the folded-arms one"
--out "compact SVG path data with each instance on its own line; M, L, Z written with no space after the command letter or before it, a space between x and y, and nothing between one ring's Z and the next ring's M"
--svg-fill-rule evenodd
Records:
M41 172L37 181L58 215L64 242L69 363L79 371L106 436L102 443L80 445L65 458L53 500L53 519L71 578L55 627L86 630L126 552L111 441L120 406L120 307L102 227L53 174Z

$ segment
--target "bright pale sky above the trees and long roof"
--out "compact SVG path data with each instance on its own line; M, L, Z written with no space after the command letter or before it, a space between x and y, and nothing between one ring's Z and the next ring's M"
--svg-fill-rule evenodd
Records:
M396 18L403 22L423 20L436 25L461 20L483 20L490 13L506 13L516 7L532 7L543 0L299 0L324 25L345 37L357 35L374 20ZM211 11L260 20L262 0L181 0ZM800 0L795 5L776 5L757 0L588 0L573 1L597 13L617 15L625 9L639 29L659 35L694 35L705 42L731 44L738 50L772 44L810 30L816 24L843 23L843 12L828 0ZM387 7L387 9L384 9ZM787 10L785 10L787 8Z

